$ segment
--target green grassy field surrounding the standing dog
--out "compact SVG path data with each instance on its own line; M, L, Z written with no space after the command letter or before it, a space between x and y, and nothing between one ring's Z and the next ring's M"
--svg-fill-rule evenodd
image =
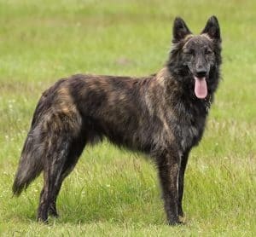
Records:
M256 236L255 9L253 0L0 0L0 235ZM190 155L186 225L166 225L154 165L108 142L84 150L61 189L61 217L36 223L42 177L19 199L11 186L43 90L77 72L156 72L174 17L198 33L212 14L224 79Z

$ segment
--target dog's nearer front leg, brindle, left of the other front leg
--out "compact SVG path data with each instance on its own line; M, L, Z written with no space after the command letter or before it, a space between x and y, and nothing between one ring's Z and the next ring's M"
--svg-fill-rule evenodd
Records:
M178 153L170 150L162 152L157 158L165 210L170 225L181 223L177 213L179 163Z

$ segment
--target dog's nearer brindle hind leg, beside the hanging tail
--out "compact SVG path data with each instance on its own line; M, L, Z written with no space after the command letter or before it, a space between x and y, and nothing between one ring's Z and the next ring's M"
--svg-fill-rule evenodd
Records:
M71 137L64 131L60 134L49 132L45 139L44 188L40 194L38 220L47 222L49 205L53 202L55 188L61 179L61 171L67 161L71 146Z

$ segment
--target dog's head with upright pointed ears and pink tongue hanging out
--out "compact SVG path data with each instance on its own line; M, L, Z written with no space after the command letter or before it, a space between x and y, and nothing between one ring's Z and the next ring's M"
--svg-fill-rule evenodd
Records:
M204 99L216 90L221 64L218 20L212 16L200 35L194 36L181 18L173 25L172 51L168 66L174 78Z

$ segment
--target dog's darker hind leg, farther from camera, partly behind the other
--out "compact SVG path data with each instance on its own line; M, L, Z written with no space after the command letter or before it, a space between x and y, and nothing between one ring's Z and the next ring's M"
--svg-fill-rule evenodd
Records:
M69 149L65 165L62 167L60 178L56 180L56 185L53 190L53 197L49 204L49 215L51 216L58 217L58 212L56 209L56 200L61 190L62 182L73 171L73 168L77 164L79 157L84 150L85 143L86 140L83 138L82 135L79 136L79 138L73 140L73 142L71 143L71 147Z

